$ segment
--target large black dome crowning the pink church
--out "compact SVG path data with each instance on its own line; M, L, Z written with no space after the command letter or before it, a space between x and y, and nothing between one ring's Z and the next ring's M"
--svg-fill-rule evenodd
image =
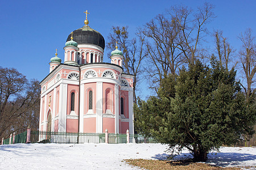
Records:
M71 34L68 35L67 41L71 40ZM98 45L102 49L105 48L105 40L100 32L95 31L90 28L88 25L84 25L84 27L76 29L73 31L73 40L77 42L77 44L93 44Z

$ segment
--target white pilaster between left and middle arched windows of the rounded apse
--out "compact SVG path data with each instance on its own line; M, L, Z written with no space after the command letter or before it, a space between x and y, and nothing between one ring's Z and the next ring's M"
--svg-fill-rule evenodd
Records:
M103 105L103 99L102 99L102 96L103 96L103 83L102 82L97 82L97 87L96 87L96 94L97 94L97 97L96 97L96 114L97 114L97 117L96 117L96 132L97 133L102 133L102 129L103 129L103 108L102 108L102 105Z

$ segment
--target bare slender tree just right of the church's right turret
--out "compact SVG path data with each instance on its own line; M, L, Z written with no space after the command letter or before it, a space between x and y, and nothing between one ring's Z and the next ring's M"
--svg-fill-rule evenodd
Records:
M128 27L113 27L113 32L109 33L108 49L114 49L115 42L118 43L119 49L123 52L123 67L127 74L134 75L133 96L134 103L137 103L137 83L139 82L139 74L141 73L141 63L147 56L145 49L145 36L142 34L141 28L137 29L135 37L129 39Z

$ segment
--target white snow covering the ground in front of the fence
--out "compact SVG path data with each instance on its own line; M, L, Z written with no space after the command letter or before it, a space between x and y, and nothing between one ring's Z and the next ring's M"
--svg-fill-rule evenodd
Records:
M0 169L137 169L123 159L164 159L160 144L14 144L0 146ZM183 151L178 158L191 156ZM256 166L256 147L222 147L207 163L221 167Z

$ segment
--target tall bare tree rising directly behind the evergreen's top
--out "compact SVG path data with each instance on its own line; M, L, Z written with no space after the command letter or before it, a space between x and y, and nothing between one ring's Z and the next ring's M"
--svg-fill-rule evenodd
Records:
M200 42L208 34L206 25L215 17L213 8L210 3L204 3L202 7L197 7L196 12L185 6L172 7L169 11L180 29L178 47L184 54L184 62L195 62Z

